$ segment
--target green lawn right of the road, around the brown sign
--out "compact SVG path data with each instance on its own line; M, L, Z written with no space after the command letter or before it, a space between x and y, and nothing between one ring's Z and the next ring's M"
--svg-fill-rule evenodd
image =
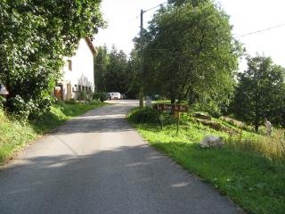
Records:
M204 136L228 138L228 135L184 121L177 136L174 124L168 124L161 130L159 124L138 122L137 118L134 119L137 113L134 110L129 120L151 145L213 185L220 193L228 195L248 213L284 213L284 161L273 161L260 152L247 151L247 147L239 149L232 144L225 144L221 149L200 149L199 142ZM242 135L256 136L253 133Z

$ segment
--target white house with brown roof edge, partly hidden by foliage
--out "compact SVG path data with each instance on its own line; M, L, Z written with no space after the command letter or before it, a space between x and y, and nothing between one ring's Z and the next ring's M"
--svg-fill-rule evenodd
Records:
M65 57L63 77L54 88L54 95L61 100L77 99L80 92L94 92L94 54L96 50L88 37L82 38L75 55Z

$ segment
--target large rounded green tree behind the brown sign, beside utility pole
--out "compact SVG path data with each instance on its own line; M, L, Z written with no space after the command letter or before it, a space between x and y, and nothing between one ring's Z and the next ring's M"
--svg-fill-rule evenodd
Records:
M231 29L229 17L210 1L162 7L144 36L146 91L173 102L227 103L240 54Z

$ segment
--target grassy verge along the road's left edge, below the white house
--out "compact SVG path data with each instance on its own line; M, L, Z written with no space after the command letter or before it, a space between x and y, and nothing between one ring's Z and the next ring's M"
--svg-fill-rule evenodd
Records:
M37 137L62 125L66 120L76 117L86 111L101 107L107 103L57 103L50 112L40 118L29 121L20 121L11 116L7 117L0 110L0 167L4 161L12 158L26 144Z

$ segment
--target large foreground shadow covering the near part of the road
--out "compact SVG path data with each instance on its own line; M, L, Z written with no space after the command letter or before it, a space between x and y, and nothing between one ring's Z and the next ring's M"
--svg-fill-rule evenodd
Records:
M0 174L0 209L2 214L237 213L189 177L147 145L41 156Z

